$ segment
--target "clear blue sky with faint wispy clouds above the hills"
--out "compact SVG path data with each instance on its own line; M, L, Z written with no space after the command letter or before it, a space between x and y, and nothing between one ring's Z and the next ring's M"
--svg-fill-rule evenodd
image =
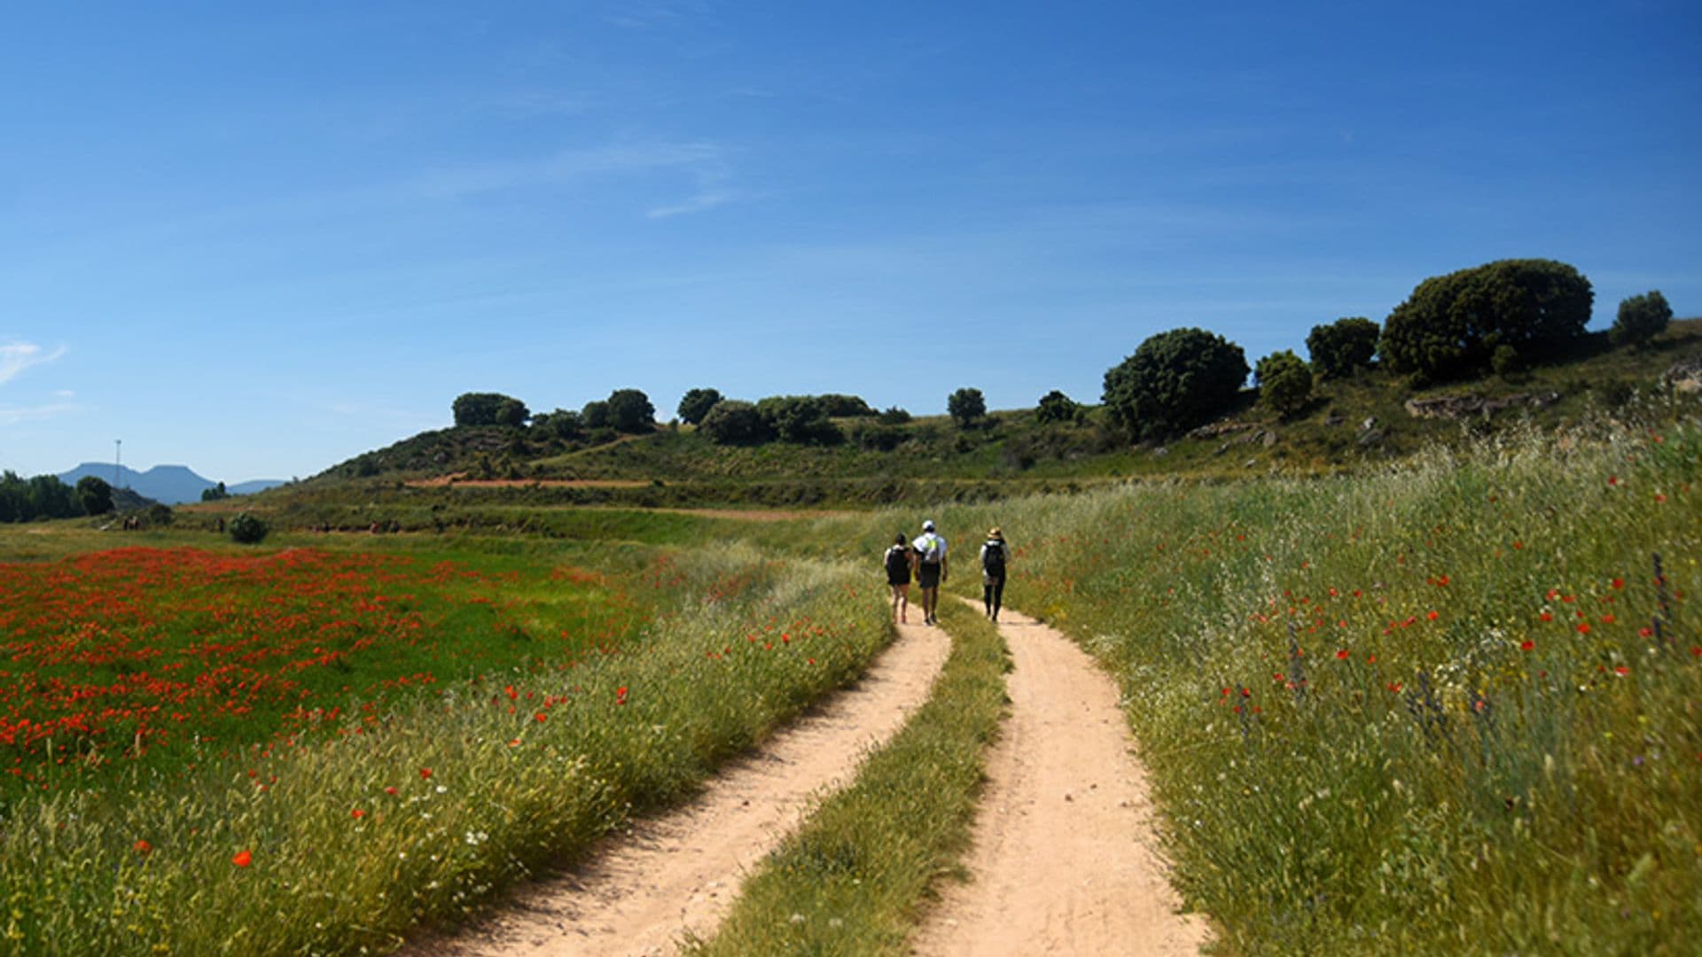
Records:
M0 468L306 477L470 390L1096 402L1505 257L1702 313L1690 2L276 7L7 12Z

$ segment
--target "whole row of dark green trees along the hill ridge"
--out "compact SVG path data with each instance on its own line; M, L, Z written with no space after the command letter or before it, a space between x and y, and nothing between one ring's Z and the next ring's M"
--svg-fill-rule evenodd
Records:
M1105 373L1101 402L1110 422L1135 439L1186 431L1232 409L1248 375L1258 402L1278 415L1305 409L1317 380L1339 380L1382 368L1414 385L1511 373L1569 354L1585 337L1595 293L1573 266L1551 259L1503 259L1433 276L1419 283L1382 325L1345 317L1314 325L1305 337L1307 359L1282 349L1248 366L1241 346L1203 329L1171 329L1147 337ZM1658 291L1631 296L1619 307L1608 332L1615 346L1641 347L1671 322L1671 307ZM456 426L526 426L563 441L597 433L643 434L655 429L655 407L637 388L614 390L580 410L531 414L502 393L470 392L454 400ZM880 426L911 421L904 409L877 412L856 395L771 395L728 398L715 388L693 388L679 400L679 421L696 426L718 444L836 444L844 441L836 419L873 419ZM985 422L979 388L946 397L946 412L963 429ZM1042 424L1079 422L1086 407L1059 390L1040 397Z

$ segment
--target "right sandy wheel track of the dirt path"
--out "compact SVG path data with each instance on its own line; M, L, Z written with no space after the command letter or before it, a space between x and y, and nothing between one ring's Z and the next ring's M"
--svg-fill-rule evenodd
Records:
M1011 715L987 761L970 880L946 889L914 950L1198 954L1205 921L1174 913L1117 686L1057 630L1001 618Z

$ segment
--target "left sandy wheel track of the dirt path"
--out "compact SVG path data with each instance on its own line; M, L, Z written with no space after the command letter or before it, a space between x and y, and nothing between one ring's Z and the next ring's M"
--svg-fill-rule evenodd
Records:
M708 937L744 872L797 828L812 797L849 783L928 700L948 652L938 628L900 627L863 681L725 768L698 800L523 889L495 918L403 954L672 954L686 931Z

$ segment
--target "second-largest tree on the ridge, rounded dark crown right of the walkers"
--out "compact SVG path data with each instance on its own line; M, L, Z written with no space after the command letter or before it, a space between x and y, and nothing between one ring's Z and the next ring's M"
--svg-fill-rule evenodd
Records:
M1130 434L1159 438L1227 409L1248 371L1241 346L1203 329L1173 329L1105 373L1105 407Z

